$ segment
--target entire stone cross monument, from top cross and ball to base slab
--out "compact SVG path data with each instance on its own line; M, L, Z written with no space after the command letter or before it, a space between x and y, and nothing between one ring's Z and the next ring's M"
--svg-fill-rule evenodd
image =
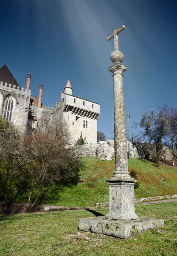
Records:
M115 172L107 180L110 186L110 211L104 217L80 218L79 230L120 238L129 238L145 230L163 227L163 219L138 218L134 206L134 185L136 180L128 172L126 146L126 124L124 108L123 73L128 69L121 62L124 54L118 50L118 34L125 29L114 29L107 40L114 37L115 50L111 53L114 63L108 68L114 80L114 142L115 142Z

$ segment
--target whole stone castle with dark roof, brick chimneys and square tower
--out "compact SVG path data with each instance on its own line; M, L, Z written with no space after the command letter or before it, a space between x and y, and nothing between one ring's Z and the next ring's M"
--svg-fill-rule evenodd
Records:
M6 65L0 68L0 115L16 125L25 133L28 128L37 130L41 125L52 124L56 120L65 121L70 128L73 141L80 135L86 143L96 143L97 120L100 105L73 95L73 88L68 80L60 102L47 108L42 104L42 84L39 96L31 95L31 74L27 75L25 90L20 87Z

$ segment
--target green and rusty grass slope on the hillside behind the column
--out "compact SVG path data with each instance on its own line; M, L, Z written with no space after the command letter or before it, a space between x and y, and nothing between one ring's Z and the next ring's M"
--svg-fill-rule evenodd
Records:
M46 195L43 204L61 206L93 206L92 202L109 201L109 186L106 182L114 172L113 161L101 161L96 157L84 159L86 171L81 173L81 182L70 188L53 188ZM154 163L140 159L129 160L129 171L138 174L140 187L135 190L135 198L177 194L177 168L155 167Z

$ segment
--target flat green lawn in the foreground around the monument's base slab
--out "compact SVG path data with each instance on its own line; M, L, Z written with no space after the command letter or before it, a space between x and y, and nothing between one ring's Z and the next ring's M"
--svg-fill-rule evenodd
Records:
M97 213L107 214L108 209ZM0 256L169 256L177 255L177 202L136 206L139 216L163 218L165 226L129 239L79 232L87 210L0 215Z

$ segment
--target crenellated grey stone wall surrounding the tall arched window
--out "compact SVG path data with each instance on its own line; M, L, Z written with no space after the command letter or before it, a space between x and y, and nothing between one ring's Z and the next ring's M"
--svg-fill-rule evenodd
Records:
M24 91L23 87L20 90L19 86L0 81L0 94L0 115L3 115L6 98L11 95L14 102L11 122L25 132L31 90Z

